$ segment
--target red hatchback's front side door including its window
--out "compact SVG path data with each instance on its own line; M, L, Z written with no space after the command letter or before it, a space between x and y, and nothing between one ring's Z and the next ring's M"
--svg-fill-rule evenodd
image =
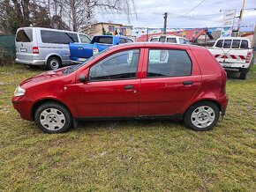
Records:
M75 88L80 118L137 116L139 49L109 55L87 72L88 82Z

